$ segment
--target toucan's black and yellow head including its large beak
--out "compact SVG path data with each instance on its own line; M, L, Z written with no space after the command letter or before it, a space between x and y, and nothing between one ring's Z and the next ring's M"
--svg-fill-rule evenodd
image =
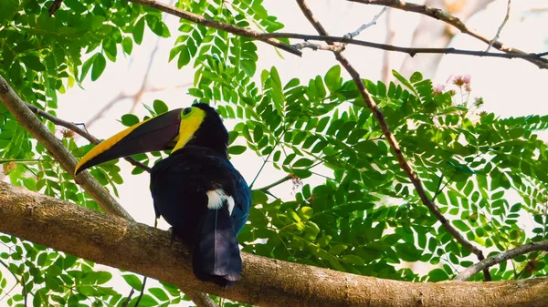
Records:
M112 159L169 149L173 154L189 145L211 148L227 156L227 128L213 107L195 103L126 128L91 149L80 159L75 174Z

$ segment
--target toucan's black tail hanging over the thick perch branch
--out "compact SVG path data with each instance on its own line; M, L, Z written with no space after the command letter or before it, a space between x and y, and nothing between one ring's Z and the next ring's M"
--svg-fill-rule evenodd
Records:
M202 281L229 287L239 279L242 260L227 206L207 210L198 222L193 269Z

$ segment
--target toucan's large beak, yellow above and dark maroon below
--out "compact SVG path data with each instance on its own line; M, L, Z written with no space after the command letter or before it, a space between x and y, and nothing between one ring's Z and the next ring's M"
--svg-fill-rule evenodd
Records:
M179 135L181 111L177 108L149 118L101 142L80 159L74 173L111 159L173 148Z

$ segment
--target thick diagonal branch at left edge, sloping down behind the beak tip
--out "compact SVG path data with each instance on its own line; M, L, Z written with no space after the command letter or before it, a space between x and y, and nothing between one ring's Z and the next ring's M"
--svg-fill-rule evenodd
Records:
M63 143L51 133L44 124L26 107L26 103L17 96L16 92L9 86L5 78L0 76L0 101L11 112L21 126L26 128L33 137L44 145L51 155L58 160L63 169L70 175L74 174L76 159L68 151ZM130 214L124 210L118 201L112 198L111 193L94 179L90 172L82 171L74 180L90 196L97 201L100 207L112 214L119 215L126 219L132 219Z

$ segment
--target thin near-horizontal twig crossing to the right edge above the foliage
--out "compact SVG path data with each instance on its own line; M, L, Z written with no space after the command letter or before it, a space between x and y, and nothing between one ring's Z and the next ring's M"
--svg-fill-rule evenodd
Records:
M368 46L376 49L395 51L406 53L409 56L416 56L417 54L453 54L453 55L464 55L464 56L485 56L485 57L501 57L501 58L524 58L524 59L540 59L546 62L546 68L548 68L548 59L542 58L541 55L546 55L548 52L543 54L525 54L525 53L494 53L494 52L485 52L481 50L466 50L466 49L456 49L453 47L449 48L416 48L416 47L405 47L405 46L394 46L387 44L374 43L364 40L358 40L353 38L346 38L343 36L312 36L299 33L287 33L287 32L274 32L274 33L265 33L261 37L277 37L277 38L297 38L304 40L319 40L325 41L328 44L332 42L344 43L347 45L357 45L357 46Z

